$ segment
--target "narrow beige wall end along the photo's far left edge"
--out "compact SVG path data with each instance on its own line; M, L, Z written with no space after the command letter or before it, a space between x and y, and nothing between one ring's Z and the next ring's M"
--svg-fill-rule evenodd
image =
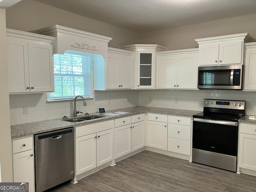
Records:
M10 133L10 106L6 49L5 9L0 9L0 162L2 182L12 182L12 148Z

